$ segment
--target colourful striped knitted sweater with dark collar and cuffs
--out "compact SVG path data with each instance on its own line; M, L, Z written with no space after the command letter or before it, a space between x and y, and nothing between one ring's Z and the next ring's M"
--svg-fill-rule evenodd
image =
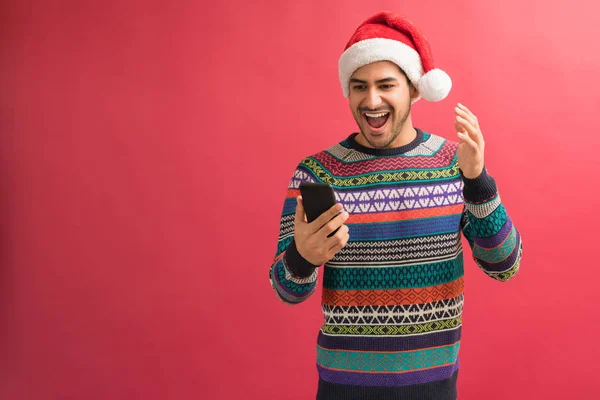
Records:
M317 399L455 399L463 310L463 246L506 281L522 244L487 170L467 179L458 143L416 128L397 148L372 149L356 133L302 160L288 187L269 271L287 304L306 300L318 266L296 249L301 182L327 182L350 214L350 239L323 271Z

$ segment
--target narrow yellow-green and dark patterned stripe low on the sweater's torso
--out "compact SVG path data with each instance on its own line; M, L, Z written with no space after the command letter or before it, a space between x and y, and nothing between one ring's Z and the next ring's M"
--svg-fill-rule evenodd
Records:
M454 329L462 325L462 317L414 325L323 325L321 331L329 335L400 336Z

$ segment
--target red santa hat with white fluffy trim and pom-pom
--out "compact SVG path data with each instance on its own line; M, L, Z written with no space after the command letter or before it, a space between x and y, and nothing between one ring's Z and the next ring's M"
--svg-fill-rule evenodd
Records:
M397 64L419 90L419 97L440 101L448 96L452 80L434 68L427 42L415 25L397 14L382 12L363 22L346 45L338 68L344 97L350 95L350 77L358 68L376 61Z

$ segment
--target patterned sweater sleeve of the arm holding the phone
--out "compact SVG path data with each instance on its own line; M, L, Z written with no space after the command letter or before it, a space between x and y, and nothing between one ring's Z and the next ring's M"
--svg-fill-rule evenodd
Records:
M318 265L313 265L300 255L294 241L296 197L300 183L315 179L298 165L288 185L279 224L279 237L275 258L269 269L271 286L279 299L294 305L308 299L317 285Z

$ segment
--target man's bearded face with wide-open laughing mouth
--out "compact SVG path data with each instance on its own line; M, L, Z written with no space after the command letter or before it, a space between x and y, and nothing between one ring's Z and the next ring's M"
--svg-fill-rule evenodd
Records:
M390 61L365 65L352 74L350 110L371 147L394 147L394 140L410 116L414 93L404 73Z

